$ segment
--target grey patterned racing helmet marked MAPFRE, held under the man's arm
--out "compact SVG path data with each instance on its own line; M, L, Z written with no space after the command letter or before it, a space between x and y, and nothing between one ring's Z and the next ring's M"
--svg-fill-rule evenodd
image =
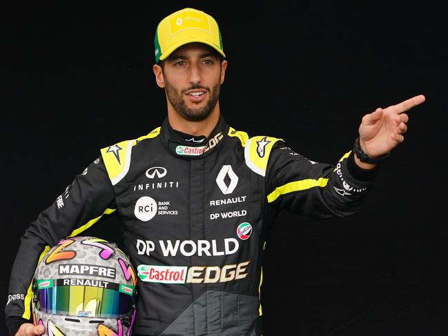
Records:
M35 270L33 323L43 324L46 336L129 336L136 281L116 244L97 237L63 239Z

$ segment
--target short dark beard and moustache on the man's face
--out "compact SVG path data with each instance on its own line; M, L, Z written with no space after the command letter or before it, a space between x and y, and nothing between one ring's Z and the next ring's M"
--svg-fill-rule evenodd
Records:
M198 88L210 92L210 98L208 99L208 101L206 101L206 105L204 107L188 108L183 98L183 92ZM215 86L213 86L212 90L203 86L196 85L178 92L173 86L165 81L166 97L168 97L168 100L170 101L171 105L173 105L177 113L179 113L179 115L187 121L202 121L209 115L211 115L211 112L215 108L220 97L220 89L220 83L217 83Z

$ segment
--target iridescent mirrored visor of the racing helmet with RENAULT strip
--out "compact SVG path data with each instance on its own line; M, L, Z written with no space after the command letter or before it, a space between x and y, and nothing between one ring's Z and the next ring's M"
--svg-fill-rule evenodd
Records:
M37 309L43 313L114 318L134 304L134 286L87 279L37 280Z

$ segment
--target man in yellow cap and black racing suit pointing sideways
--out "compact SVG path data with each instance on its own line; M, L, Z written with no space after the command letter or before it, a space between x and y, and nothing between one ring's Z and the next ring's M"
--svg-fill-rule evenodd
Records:
M133 335L261 335L261 266L275 215L355 213L378 164L404 140L405 112L425 101L418 95L364 115L353 149L333 166L226 124L219 103L226 55L205 12L184 8L164 18L155 61L166 120L101 149L26 230L10 279L17 295L6 306L11 335L43 333L24 322L44 248L116 213L139 278Z

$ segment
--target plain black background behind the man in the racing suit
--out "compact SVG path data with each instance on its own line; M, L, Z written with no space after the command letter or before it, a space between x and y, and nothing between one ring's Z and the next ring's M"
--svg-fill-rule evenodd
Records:
M164 119L155 27L188 6L220 24L226 121L314 161L351 149L365 113L427 98L409 111L406 140L359 213L278 217L266 245L265 335L448 335L448 29L435 2L3 3L3 306L30 221L99 148ZM119 222L87 233L120 242Z

